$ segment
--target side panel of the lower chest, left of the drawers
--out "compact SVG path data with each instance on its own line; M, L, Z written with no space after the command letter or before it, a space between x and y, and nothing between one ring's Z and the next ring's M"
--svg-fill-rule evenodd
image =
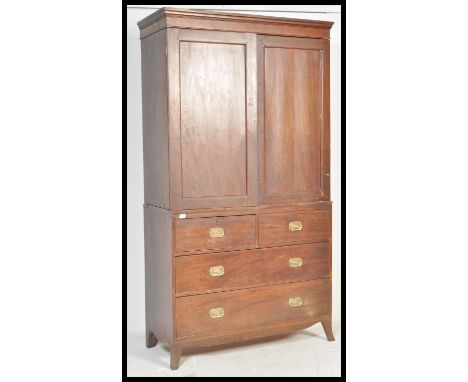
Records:
M172 215L147 205L144 213L146 332L172 343Z

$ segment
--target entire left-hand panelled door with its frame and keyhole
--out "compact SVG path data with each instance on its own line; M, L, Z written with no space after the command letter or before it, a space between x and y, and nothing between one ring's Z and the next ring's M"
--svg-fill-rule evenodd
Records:
M167 33L171 207L256 205L255 35Z

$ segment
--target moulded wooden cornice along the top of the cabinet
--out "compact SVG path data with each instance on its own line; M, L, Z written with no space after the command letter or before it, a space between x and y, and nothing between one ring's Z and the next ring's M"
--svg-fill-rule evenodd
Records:
M140 30L154 24L162 19L168 19L171 17L182 17L182 18L193 18L193 19L204 19L211 21L237 21L237 22L255 22L270 25L282 25L282 26L295 26L295 27L308 27L308 28L320 28L330 30L333 22L322 21L322 20L308 20L308 19L294 19L286 17L275 17L275 16L258 16L252 14L243 13L231 13L231 12L213 12L213 11L199 11L182 8L167 8L163 7L151 15L140 20L137 24ZM176 24L173 25L177 27Z

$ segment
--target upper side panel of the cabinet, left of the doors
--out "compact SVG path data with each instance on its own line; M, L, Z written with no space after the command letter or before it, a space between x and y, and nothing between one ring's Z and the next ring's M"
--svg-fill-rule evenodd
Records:
M169 208L166 31L141 40L145 203Z

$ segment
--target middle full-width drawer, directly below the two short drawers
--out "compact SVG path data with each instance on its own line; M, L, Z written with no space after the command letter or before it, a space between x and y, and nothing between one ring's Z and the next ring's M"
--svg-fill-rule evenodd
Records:
M315 243L175 260L176 293L206 293L329 276L330 244Z

